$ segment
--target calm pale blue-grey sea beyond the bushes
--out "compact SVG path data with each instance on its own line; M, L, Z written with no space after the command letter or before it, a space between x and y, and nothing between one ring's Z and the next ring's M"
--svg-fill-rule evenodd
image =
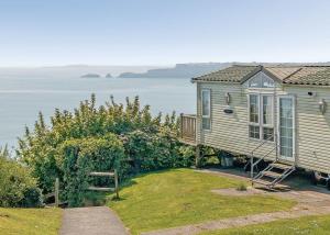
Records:
M196 109L196 89L189 79L0 77L0 146L15 145L24 125L33 126L38 111L48 121L55 108L73 110L91 93L98 104L111 94L118 102L138 94L154 114L194 113Z

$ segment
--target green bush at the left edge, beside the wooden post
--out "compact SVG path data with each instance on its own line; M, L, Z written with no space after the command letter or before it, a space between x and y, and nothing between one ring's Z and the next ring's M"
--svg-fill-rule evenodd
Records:
M30 171L0 154L0 206L41 206L41 190Z

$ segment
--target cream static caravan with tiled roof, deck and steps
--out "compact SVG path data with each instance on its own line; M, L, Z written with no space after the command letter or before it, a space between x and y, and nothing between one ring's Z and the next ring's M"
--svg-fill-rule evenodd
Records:
M193 82L197 113L182 115L184 141L245 155L253 182L268 188L297 168L329 179L330 67L238 65ZM268 167L253 175L261 160Z

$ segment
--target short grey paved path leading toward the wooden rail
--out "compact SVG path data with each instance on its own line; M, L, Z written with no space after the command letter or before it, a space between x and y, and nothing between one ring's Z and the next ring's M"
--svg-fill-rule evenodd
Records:
M127 235L117 214L107 206L64 210L61 235Z

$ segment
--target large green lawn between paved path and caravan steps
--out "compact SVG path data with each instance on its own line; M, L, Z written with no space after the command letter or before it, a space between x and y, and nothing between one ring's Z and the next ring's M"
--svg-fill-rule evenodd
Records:
M120 201L111 201L132 234L235 217L283 211L295 202L274 197L224 197L211 189L234 188L242 181L191 169L175 169L142 175L120 191Z

